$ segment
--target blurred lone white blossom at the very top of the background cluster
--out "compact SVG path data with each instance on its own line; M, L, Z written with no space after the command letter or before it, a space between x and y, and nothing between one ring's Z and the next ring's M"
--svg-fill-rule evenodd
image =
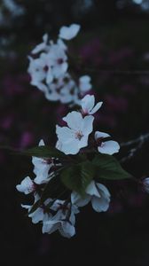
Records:
M69 41L75 38L80 28L81 27L78 24L72 24L69 27L66 26L60 27L59 38Z

